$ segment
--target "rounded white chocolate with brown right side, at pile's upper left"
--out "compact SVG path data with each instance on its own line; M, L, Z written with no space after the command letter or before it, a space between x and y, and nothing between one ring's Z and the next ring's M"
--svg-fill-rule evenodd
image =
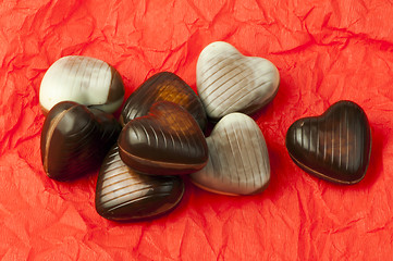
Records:
M124 98L124 85L118 71L108 63L88 57L63 57L44 75L39 103L48 112L60 101L75 101L114 112Z

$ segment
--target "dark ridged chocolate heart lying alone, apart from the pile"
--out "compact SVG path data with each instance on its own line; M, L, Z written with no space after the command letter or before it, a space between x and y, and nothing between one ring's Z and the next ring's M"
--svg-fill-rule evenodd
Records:
M286 133L292 160L317 177L339 183L360 182L371 153L371 130L364 110L339 101L322 115L304 117Z

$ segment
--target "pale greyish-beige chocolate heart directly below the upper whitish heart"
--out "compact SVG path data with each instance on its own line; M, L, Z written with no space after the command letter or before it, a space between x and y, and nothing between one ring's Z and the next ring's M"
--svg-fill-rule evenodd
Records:
M231 113L206 139L209 161L191 174L199 187L225 195L251 195L270 182L268 148L259 126L243 113Z

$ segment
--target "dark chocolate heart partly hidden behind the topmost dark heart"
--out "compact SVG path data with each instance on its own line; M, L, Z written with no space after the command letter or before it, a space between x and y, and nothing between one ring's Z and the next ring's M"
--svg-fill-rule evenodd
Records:
M128 97L120 123L125 125L131 120L146 115L157 101L171 101L183 107L205 129L207 119L200 99L182 78L169 72L155 74Z

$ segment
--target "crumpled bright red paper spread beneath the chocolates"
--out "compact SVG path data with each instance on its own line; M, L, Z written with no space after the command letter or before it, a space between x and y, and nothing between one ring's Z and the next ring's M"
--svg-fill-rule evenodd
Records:
M386 0L3 0L0 3L0 258L2 260L391 260L393 5ZM70 54L119 70L126 97L155 73L196 90L196 62L224 40L272 61L281 85L253 115L271 183L255 196L213 195L186 179L180 206L119 224L95 211L97 173L59 183L42 171L46 70ZM298 169L288 126L339 100L372 129L366 177L340 186Z

